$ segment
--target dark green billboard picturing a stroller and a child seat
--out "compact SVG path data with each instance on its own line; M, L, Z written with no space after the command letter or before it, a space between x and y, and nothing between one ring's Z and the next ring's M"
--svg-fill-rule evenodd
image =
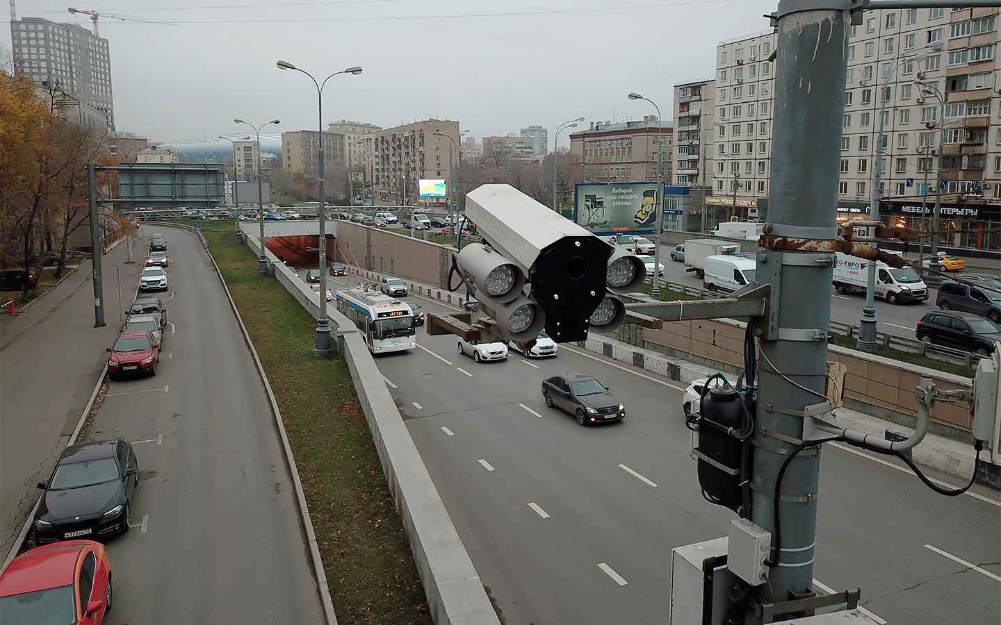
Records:
M595 234L654 234L657 182L575 185L574 221ZM662 196L663 197L663 196Z

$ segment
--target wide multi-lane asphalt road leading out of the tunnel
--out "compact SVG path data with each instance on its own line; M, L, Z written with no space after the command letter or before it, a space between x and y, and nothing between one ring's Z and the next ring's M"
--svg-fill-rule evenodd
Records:
M507 622L665 622L672 548L726 535L733 517L700 495L682 387L566 345L556 359L477 365L455 337L417 337L416 350L376 362ZM547 409L541 381L567 370L610 386L626 420L584 428ZM936 495L829 444L815 578L861 587L891 622L996 622L998 578L933 550L1001 574L1001 507L978 493Z

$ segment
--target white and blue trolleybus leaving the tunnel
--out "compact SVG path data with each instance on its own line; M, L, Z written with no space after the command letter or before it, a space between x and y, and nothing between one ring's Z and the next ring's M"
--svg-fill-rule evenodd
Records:
M417 346L410 307L380 293L374 284L337 291L337 311L354 323L373 354Z

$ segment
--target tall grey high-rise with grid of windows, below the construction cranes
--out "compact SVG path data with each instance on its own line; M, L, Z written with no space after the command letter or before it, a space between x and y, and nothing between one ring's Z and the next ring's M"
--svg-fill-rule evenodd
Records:
M10 38L20 62L18 69L32 82L97 109L104 126L114 130L107 39L76 24L56 24L38 17L11 21Z

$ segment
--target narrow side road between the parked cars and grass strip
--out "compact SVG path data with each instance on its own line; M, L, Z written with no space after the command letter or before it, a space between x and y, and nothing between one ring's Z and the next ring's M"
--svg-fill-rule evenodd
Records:
M252 358L193 235L172 233L170 244L185 259L169 305L177 332L156 377L111 383L95 419L95 436L157 441L136 446L137 527L109 544L116 614L318 622L293 486Z

